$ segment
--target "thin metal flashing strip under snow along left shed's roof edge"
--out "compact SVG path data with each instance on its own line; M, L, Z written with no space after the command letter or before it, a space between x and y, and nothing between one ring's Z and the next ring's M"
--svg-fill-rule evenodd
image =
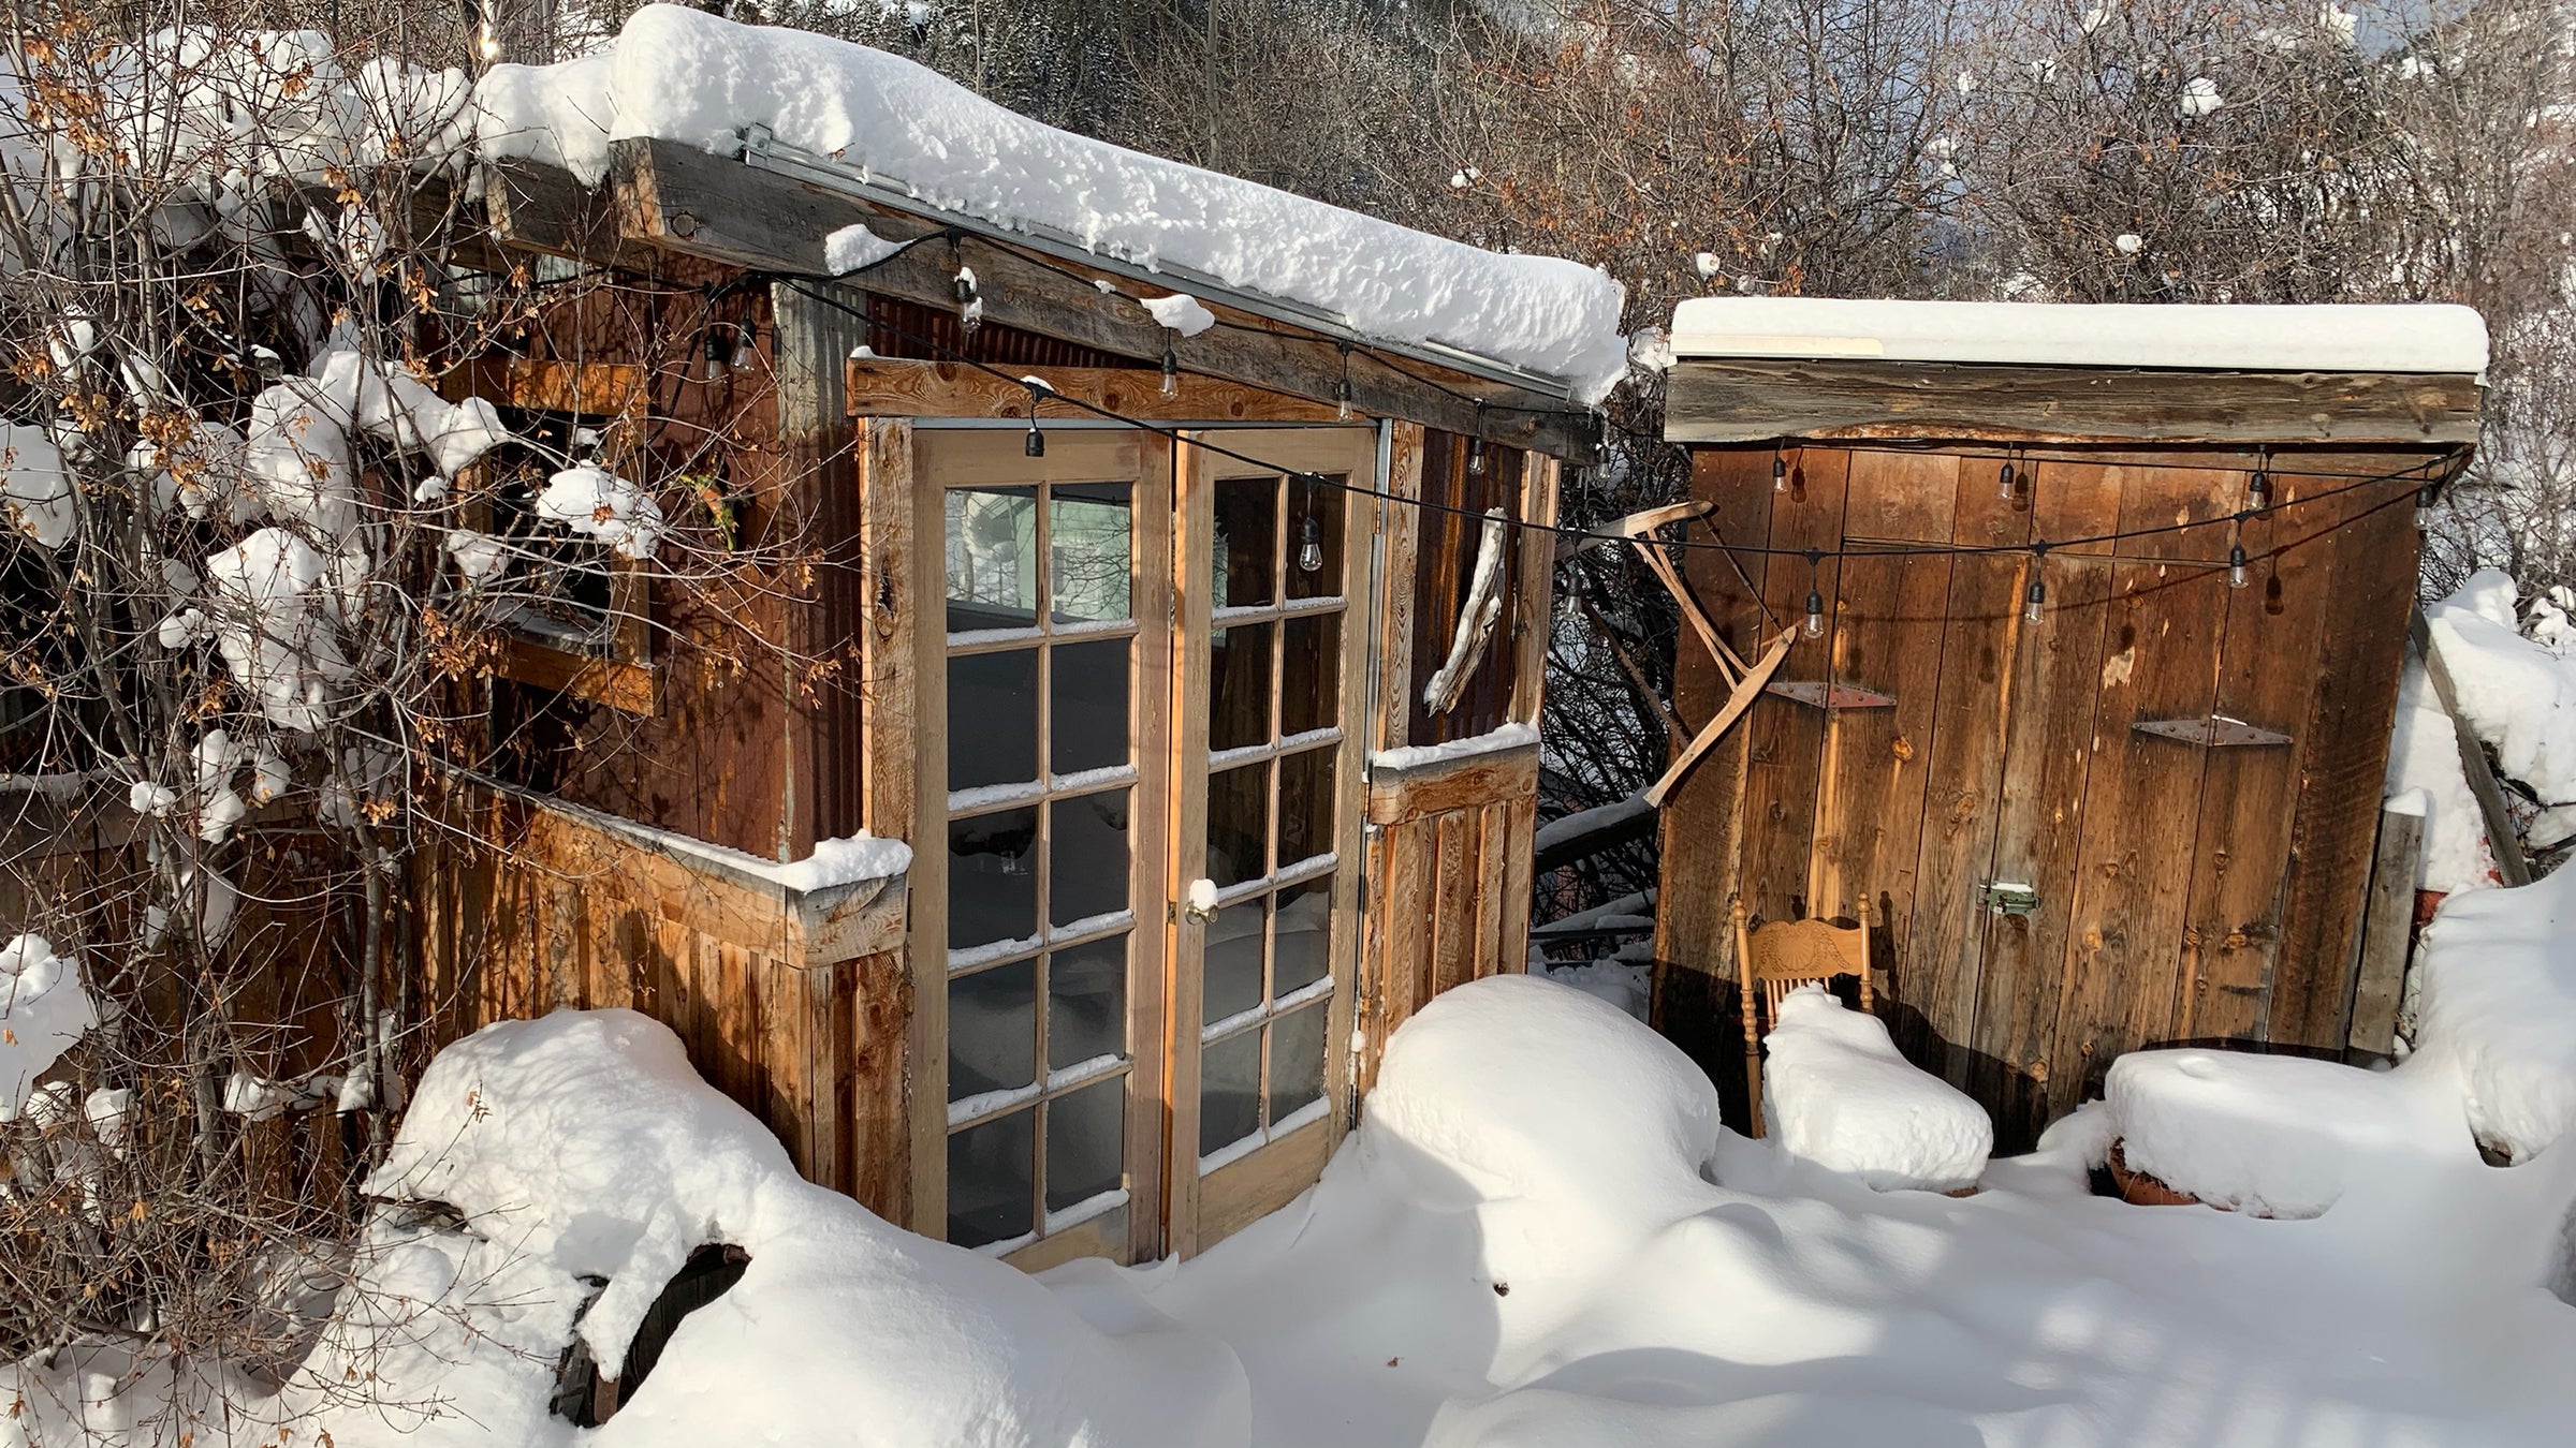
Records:
M868 167L848 165L832 157L819 157L801 147L783 144L770 134L768 126L750 126L744 131L742 162L796 180L806 180L827 191L840 191L845 196L855 196L860 201L871 201L891 211L904 211L907 216L938 222L940 227L974 232L992 242L1030 247L1074 265L1113 271L1118 276L1126 276L1128 281L1144 281L1149 286L1162 286L1164 291L1190 291L1193 296L1203 299L1213 296L1226 307L1234 307L1239 312L1252 312L1255 317L1267 317L1273 322L1303 327L1309 332L1327 335L1332 340L1365 345L1370 350L1406 356L1430 366L1445 366L1453 371L1473 374L1481 376L1484 381L1494 381L1502 386L1520 386L1525 392L1538 392L1553 402L1561 402L1569 412L1589 412L1589 407L1579 402L1574 392L1553 376L1525 371L1512 363L1499 363L1494 358L1484 358L1471 350L1453 348L1448 343L1430 343L1430 340L1399 343L1388 338L1373 338L1352 327L1350 319L1342 317L1340 312L1327 312L1321 307L1311 307L1306 301L1293 301L1285 296L1270 296L1265 291L1244 291L1229 281L1221 281L1211 273L1188 265L1172 265L1172 263L1141 265L1110 252L1092 250L1082 237L1074 237L1072 232L1056 227L1046 224L1005 227L984 216L951 211L933 201L922 201L920 193L902 178L876 175ZM1497 402L1497 407L1510 410L1510 405L1504 402Z

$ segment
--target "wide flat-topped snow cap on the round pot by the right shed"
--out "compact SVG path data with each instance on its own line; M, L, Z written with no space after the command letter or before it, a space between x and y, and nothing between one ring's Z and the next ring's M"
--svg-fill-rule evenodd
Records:
M2439 1098L2308 1056L2130 1051L2102 1095L2130 1167L2254 1216L2324 1216L2357 1172L2458 1139Z

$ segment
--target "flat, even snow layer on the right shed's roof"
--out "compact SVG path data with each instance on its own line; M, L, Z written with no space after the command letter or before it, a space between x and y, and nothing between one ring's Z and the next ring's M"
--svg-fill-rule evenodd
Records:
M2228 371L2486 371L2468 307L2115 307L1695 296L1672 356Z

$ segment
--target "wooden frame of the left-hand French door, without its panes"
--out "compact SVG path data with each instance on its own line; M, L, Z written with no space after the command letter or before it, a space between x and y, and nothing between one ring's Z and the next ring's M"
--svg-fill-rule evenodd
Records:
M925 1237L948 1234L948 605L945 510L951 487L1036 487L1048 482L1115 482L1136 487L1128 533L1128 608L1136 621L1136 649L1128 662L1128 750L1136 765L1131 806L1128 899L1136 915L1128 946L1128 1100L1126 1170L1128 1201L1059 1234L1007 1252L1025 1270L1043 1270L1069 1257L1151 1260L1162 1250L1162 1149L1164 1105L1157 1090L1164 1067L1164 982L1170 935L1157 928L1157 894L1167 899L1172 794L1167 714L1154 709L1167 698L1172 678L1172 631L1167 626L1172 443L1144 430L1051 428L1041 459L1023 453L1018 430L940 428L914 420L909 433L909 538L917 541L920 605L912 621L914 729L909 763L914 773L912 822L912 1229ZM1038 567L1046 567L1041 557ZM1041 701L1043 709L1043 701ZM1043 745L1043 734L1041 734ZM1046 760L1038 760L1041 783ZM1046 920L1038 920L1041 935ZM1046 1010L1041 995L1038 1010ZM1046 1062L1036 1062L1046 1080ZM1041 1141L1043 1152L1043 1141ZM1043 1183L1041 1183L1043 1190Z

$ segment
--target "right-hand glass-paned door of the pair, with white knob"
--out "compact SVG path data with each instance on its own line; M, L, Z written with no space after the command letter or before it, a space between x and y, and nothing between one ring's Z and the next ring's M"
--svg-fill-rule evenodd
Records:
M1368 428L1193 441L1175 528L1175 1255L1283 1206L1342 1134L1368 631L1350 603L1376 508L1306 474L1376 487L1378 456Z

